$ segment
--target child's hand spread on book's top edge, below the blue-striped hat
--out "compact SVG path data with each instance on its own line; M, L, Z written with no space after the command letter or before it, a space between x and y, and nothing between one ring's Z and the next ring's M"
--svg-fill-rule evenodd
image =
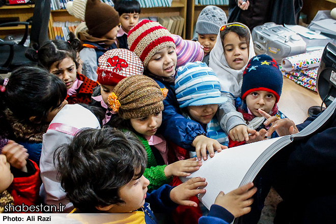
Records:
M214 154L214 150L220 152L222 149L227 149L228 147L220 145L217 140L209 138L204 135L199 135L195 137L192 142L192 146L195 147L196 156L198 160L207 160L207 150L209 152L210 157L212 158Z

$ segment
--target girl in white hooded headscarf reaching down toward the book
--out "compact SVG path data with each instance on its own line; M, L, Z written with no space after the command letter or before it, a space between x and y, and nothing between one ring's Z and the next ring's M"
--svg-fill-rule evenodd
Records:
M253 40L247 26L236 22L220 27L210 52L209 67L219 79L222 95L228 98L226 103L219 105L220 126L234 141L248 141L248 134L256 133L247 128L242 115L236 111L234 100L240 96L247 62L254 56Z

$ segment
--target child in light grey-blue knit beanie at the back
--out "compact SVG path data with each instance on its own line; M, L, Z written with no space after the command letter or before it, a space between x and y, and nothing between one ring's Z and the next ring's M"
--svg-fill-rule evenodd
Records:
M216 43L219 28L228 22L225 12L217 6L205 7L197 19L195 32L198 34L198 41L203 46L203 61L209 66L209 55Z

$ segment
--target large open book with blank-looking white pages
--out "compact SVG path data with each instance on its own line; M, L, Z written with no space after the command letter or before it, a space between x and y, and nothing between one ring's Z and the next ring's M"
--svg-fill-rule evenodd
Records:
M323 113L311 124L296 134L267 139L238 147L215 152L214 157L202 161L200 170L189 177L183 177L183 182L192 177L204 177L208 182L206 193L200 194L200 201L210 209L220 191L228 193L238 187L252 182L258 172L276 152L283 147L314 134L333 114L336 107L334 100Z

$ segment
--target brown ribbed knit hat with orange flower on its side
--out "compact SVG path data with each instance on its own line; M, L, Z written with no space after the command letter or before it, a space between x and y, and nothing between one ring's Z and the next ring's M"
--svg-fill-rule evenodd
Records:
M122 119L147 117L163 110L162 92L152 78L132 75L117 84L108 96L108 104Z

